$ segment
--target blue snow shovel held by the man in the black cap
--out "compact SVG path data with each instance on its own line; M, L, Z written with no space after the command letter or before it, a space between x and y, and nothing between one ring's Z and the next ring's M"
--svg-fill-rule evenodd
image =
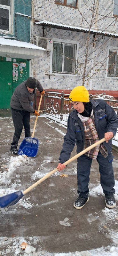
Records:
M39 102L39 106L38 106L38 110L37 110L38 113L39 113L39 109L41 106L42 97L43 97L43 95L41 95L41 99ZM36 119L35 119L35 125L34 125L34 129L33 129L32 137L27 137L21 142L19 150L18 150L18 155L26 155L26 156L30 156L30 157L35 157L37 155L39 141L36 138L34 138L37 119L38 119L38 116L36 116Z

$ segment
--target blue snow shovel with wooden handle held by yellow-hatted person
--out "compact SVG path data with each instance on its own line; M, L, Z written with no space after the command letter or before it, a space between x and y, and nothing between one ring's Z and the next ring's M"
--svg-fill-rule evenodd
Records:
M96 143L92 144L90 147L85 148L83 151L81 151L80 153L78 153L77 155L71 157L69 160L67 160L64 165L67 165L69 163L71 163L72 161L74 161L75 159L77 159L79 156L82 156L83 154L85 154L87 151L89 151L90 149L98 146L99 144L103 143L105 141L105 138L97 141ZM53 171L49 172L48 174L46 174L43 178L41 178L40 180L38 180L37 182L35 182L33 185L31 185L29 188L27 188L24 191L16 191L12 194L6 195L6 196L2 196L0 197L0 208L5 208L11 205L14 205L16 203L19 202L19 200L25 195L27 194L31 189L35 188L38 184L40 184L43 180L46 180L48 177L50 177L52 174L54 174L55 172L57 172L58 169L54 169Z

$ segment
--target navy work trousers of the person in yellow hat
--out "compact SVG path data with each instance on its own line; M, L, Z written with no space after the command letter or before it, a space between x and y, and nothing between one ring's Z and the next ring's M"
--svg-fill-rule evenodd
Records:
M96 160L99 164L100 184L103 188L103 192L106 195L111 195L115 193L115 182L112 162L109 162L108 156L104 158L99 152ZM80 156L77 160L77 192L85 198L88 197L89 193L89 176L92 160L92 158L85 155Z

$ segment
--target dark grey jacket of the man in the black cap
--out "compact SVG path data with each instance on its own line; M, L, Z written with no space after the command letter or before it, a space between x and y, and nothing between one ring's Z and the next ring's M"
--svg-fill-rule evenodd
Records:
M29 93L25 82L26 81L22 82L15 88L15 91L10 101L10 106L11 108L17 110L24 110L30 113L34 113L35 110L31 107L30 102L34 100L36 89L32 93ZM40 92L43 91L43 87L38 80L36 87Z

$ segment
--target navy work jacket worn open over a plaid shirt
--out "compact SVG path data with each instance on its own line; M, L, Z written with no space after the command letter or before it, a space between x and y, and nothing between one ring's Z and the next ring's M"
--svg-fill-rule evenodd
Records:
M118 117L113 108L111 108L104 100L91 100L93 114L95 117L95 127L98 132L99 139L104 138L106 132L113 132L115 135L118 128ZM70 154L76 144L77 154L84 148L84 129L77 111L74 109L68 116L67 133L64 136L63 148L59 156L59 163L63 164L70 158ZM110 157L112 158L112 140L108 143L103 142ZM110 159L109 159L110 160Z

